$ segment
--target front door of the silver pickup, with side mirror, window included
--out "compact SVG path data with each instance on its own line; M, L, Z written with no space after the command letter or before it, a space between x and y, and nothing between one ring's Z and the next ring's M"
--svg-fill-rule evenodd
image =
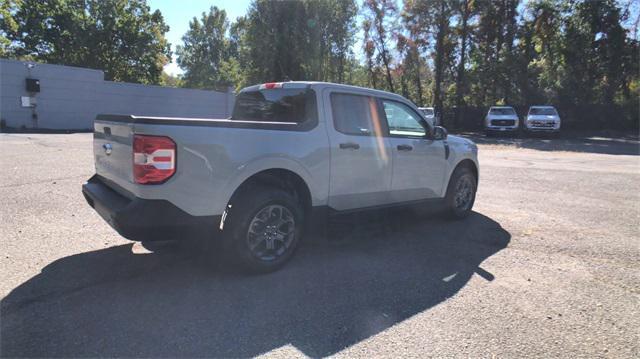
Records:
M406 202L441 197L446 144L426 136L420 115L404 103L382 99L393 153L391 199Z

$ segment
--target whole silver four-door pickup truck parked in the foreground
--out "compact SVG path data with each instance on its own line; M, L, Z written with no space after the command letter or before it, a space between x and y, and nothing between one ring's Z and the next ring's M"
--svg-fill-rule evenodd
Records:
M463 218L478 184L474 143L401 96L332 83L247 87L228 119L99 115L93 147L82 192L118 233L210 238L257 272L331 214L435 202Z

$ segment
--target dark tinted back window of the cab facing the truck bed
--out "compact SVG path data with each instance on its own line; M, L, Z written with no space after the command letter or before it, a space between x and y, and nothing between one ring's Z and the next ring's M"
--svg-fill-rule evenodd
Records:
M238 94L231 119L302 123L312 119L315 111L315 93L311 89L264 89Z

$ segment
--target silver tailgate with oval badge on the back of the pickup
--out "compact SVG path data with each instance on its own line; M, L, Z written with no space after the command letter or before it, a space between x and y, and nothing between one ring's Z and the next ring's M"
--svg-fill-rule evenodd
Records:
M98 116L93 125L96 173L123 188L133 183L133 123L127 118L130 116Z

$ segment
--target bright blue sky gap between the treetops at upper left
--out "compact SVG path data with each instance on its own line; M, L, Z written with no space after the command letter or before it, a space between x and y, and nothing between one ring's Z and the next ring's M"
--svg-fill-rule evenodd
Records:
M196 16L200 17L203 12L208 12L212 6L217 6L227 12L229 21L244 15L249 8L250 0L147 0L151 10L160 10L164 21L169 25L167 40L171 43L173 50L173 61L165 66L164 70L169 74L180 74L182 71L175 63L176 45L182 43L182 35L189 29L189 21Z

